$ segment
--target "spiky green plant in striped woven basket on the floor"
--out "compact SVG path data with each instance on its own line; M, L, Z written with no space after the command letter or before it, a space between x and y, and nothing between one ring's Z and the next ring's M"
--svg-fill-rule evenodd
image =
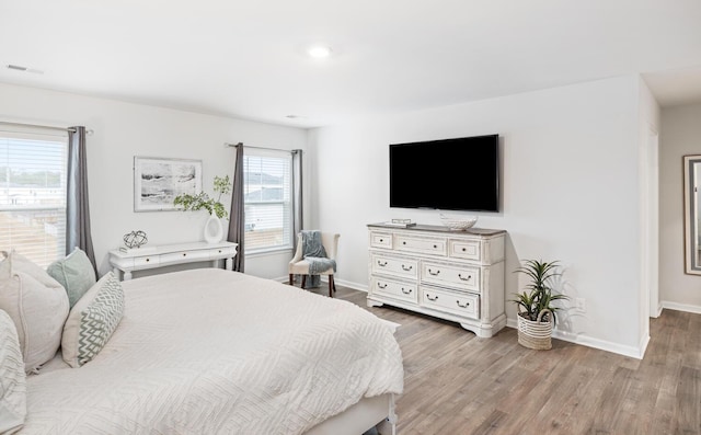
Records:
M553 294L552 281L559 276L558 261L526 260L515 272L525 274L530 282L526 290L512 299L518 306L518 343L528 348L552 348L552 329L560 309L553 301L567 296Z

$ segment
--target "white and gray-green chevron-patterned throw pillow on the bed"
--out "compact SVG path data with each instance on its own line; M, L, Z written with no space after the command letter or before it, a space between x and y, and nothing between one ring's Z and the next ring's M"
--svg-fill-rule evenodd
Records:
M112 272L100 278L68 314L61 339L64 360L80 367L107 344L124 313L124 290Z

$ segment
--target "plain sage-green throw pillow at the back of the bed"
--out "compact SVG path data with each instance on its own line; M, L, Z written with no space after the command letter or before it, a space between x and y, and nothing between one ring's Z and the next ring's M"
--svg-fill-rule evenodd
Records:
M95 285L95 270L88 259L85 252L76 248L73 252L62 260L57 260L46 267L46 272L56 281L58 281L66 293L68 293L68 302L73 308L78 299L80 299L90 287Z

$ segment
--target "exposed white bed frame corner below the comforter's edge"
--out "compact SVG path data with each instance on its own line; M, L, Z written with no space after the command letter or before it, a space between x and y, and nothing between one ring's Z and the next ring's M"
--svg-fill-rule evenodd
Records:
M391 435L397 435L394 394L365 398L338 415L315 425L306 435L359 435L380 424L389 423Z

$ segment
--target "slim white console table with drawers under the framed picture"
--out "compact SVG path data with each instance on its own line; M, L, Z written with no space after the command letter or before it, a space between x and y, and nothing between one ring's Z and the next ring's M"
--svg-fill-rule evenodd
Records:
M134 271L204 261L211 261L216 267L218 260L225 260L225 267L231 271L237 247L232 242L193 242L137 248L127 252L115 249L110 251L110 264L117 277L120 276L119 272L124 272L125 281L131 279Z

